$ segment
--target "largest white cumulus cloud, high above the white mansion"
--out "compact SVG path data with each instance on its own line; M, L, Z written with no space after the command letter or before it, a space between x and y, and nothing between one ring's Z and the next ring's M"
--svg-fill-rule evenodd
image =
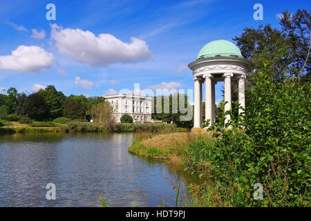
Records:
M59 52L76 61L106 66L152 59L146 42L135 37L131 37L131 43L125 43L110 34L95 36L93 32L79 28L62 28L56 24L51 27L51 39Z

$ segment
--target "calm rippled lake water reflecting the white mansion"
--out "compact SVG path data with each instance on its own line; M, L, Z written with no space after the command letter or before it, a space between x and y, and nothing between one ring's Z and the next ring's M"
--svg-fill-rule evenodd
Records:
M133 133L0 136L0 206L156 206L179 166L128 153ZM166 180L164 177L169 177ZM46 200L46 184L56 200ZM173 205L173 200L167 200Z

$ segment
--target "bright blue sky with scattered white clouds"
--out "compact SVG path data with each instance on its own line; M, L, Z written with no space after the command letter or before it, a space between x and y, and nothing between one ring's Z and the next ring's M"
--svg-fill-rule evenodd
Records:
M55 20L46 19L48 3L55 5ZM253 17L256 3L263 20ZM54 85L65 95L102 96L133 91L134 84L154 93L187 91L194 88L187 65L209 41L232 41L245 27L278 28L281 12L310 6L298 0L0 0L0 91ZM222 88L216 85L216 102Z

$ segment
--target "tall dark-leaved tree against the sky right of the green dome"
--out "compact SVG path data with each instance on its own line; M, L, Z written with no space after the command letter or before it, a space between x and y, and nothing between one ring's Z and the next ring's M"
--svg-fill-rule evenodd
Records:
M280 29L270 24L261 25L257 29L245 28L240 37L234 37L242 55L252 61L250 70L255 71L249 72L248 79L264 65L270 81L283 81L286 76L310 79L310 20L311 13L307 10L297 10L294 15L285 11L279 22Z

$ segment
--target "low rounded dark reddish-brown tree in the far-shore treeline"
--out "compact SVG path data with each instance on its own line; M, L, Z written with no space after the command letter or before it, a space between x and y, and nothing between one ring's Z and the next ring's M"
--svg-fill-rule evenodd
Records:
M87 106L85 104L71 100L64 107L64 117L70 119L84 119Z

